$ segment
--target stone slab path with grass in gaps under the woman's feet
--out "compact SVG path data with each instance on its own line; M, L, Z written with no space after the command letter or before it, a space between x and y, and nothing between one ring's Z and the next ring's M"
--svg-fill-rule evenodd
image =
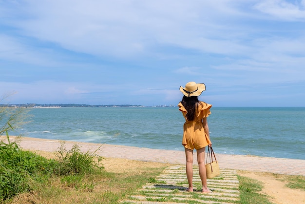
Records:
M170 166L147 183L133 195L128 195L122 204L186 204L192 202L204 204L233 204L239 201L239 182L236 171L220 169L220 175L208 179L210 194L201 193L202 185L198 174L198 167L194 166L194 192L186 192L188 181L185 167Z

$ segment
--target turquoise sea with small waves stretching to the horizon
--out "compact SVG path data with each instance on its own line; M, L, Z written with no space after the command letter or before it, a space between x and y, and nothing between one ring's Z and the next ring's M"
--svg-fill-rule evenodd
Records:
M305 160L305 107L212 107L215 153ZM181 150L178 107L31 108L24 137Z

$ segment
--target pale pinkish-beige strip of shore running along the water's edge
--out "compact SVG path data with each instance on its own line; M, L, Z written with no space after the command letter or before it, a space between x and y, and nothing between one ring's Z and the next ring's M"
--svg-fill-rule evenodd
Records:
M1 139L5 141L6 137L2 136ZM15 141L16 137L10 136L10 140L11 142ZM71 141L66 141L66 148L70 149L74 143L80 146L80 149L85 152L88 150L95 151L99 148L100 151L97 151L96 154L104 158L124 158L144 162L185 164L184 151ZM19 144L20 147L27 150L55 152L60 146L60 141L21 137ZM220 168L305 176L305 160L218 154L217 148L214 151ZM196 154L194 152L194 161L196 160ZM195 162L194 165L196 165Z

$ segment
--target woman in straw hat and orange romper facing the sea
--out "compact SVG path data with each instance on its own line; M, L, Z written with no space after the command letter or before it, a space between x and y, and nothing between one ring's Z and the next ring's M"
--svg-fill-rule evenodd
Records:
M185 88L180 86L180 91L184 96L178 107L186 121L183 125L182 144L185 148L186 173L189 182L187 191L193 191L193 149L196 149L202 192L211 193L212 191L207 186L205 149L208 145L212 146L207 122L212 105L198 101L198 96L205 90L204 83L188 82Z

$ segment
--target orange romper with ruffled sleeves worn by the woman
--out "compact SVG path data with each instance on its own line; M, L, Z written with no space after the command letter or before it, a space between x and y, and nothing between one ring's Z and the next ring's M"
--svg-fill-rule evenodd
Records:
M199 102L194 121L188 121L186 117L188 111L181 102L178 104L178 107L186 121L183 125L182 138L182 144L185 146L185 148L193 150L194 148L200 149L208 146L210 139L205 133L202 119L210 115L210 108L212 105L205 102Z

